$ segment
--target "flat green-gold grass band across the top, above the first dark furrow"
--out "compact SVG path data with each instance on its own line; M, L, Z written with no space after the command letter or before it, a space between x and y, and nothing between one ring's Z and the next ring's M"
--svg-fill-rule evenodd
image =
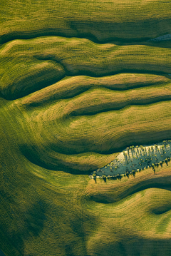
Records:
M166 0L24 0L12 5L3 0L0 9L1 43L47 35L142 41L171 33L170 2Z

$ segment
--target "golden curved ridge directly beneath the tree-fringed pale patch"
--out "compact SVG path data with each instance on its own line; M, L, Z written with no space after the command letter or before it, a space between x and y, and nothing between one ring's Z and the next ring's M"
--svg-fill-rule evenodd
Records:
M129 197L147 188L160 188L170 190L170 162L163 163L156 168L156 173L152 168L142 170L123 177L121 180L92 180L88 182L86 197L98 203L115 203L123 198Z

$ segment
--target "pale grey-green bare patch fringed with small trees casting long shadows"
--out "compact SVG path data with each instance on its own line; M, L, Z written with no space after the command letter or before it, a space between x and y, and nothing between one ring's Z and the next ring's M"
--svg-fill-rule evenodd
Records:
M125 148L118 156L103 168L93 171L90 178L110 178L135 174L145 168L154 170L155 166L167 163L171 158L171 140L153 145L137 145Z

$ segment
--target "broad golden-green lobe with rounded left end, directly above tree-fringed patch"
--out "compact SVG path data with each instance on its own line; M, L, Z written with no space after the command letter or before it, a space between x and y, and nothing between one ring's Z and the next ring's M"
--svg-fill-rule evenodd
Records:
M16 136L19 147L29 160L53 170L64 165L65 170L70 166L87 172L110 163L113 153L126 146L170 138L169 108L170 101L166 101L68 117L61 115L58 104L33 113L9 105L24 134ZM112 155L105 159L105 154Z

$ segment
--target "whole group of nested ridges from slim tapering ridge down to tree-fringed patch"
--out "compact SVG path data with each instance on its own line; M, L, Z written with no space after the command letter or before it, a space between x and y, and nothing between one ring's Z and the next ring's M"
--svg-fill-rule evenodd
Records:
M117 84L117 79L127 75L128 86L135 88L115 91L98 86L101 79L104 86L111 83L115 88L112 81ZM145 85L154 78L154 85L136 88L139 77ZM82 83L77 83L79 79ZM83 82L86 88L92 83L93 88L74 96L83 89ZM63 92L70 86L73 98L58 99L63 98ZM119 86L122 88L122 79ZM49 101L52 98L54 101ZM72 169L88 173L107 164L115 157L113 153L128 145L170 138L170 79L164 76L121 74L68 78L14 101L9 108L16 111L24 130L25 138L19 139L21 152L33 163L53 170L60 166L71 173Z

